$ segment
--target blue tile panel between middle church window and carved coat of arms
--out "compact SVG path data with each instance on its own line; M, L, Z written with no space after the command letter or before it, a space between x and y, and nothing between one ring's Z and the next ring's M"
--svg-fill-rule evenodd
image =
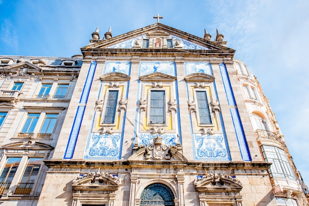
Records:
M150 143L153 143L153 138L157 137L157 136L163 138L162 144L167 144L168 146L171 146L171 145L176 146L177 145L177 143L176 143L177 135L176 134L163 134L163 135L155 134L155 135L152 135L152 134L149 134L149 133L140 133L140 134L138 134L137 143L138 143L139 146L140 145L147 146Z

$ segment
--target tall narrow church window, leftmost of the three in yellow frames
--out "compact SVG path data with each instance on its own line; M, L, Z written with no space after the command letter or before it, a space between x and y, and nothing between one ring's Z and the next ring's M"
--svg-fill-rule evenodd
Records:
M106 103L106 112L104 115L103 123L114 124L117 100L118 100L118 91L110 90L108 94L107 103Z

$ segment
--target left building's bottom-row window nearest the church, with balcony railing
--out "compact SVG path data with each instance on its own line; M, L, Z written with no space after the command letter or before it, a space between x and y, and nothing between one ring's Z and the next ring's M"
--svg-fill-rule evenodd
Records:
M25 172L18 183L14 194L29 195L38 177L43 158L29 158Z

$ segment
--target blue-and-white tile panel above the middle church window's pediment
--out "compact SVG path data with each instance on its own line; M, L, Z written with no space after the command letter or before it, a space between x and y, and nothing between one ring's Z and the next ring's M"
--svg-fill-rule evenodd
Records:
M141 62L139 76L161 72L171 76L176 76L176 66L174 62Z

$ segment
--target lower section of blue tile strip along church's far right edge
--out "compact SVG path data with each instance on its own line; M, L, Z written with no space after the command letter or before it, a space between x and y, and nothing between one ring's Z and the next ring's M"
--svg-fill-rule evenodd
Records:
M238 140L238 146L240 148L241 157L243 160L251 161L248 144L246 137L243 133L242 124L240 122L240 117L237 108L230 108L232 114L232 120L235 128L236 137Z

